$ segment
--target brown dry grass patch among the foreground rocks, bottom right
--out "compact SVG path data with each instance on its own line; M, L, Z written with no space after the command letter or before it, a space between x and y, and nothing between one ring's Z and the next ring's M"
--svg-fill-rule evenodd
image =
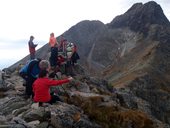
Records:
M103 128L153 128L153 122L143 112L125 110L118 106L100 106L103 97L95 96L82 98L75 96L71 99L75 105L81 106L89 118L102 125Z

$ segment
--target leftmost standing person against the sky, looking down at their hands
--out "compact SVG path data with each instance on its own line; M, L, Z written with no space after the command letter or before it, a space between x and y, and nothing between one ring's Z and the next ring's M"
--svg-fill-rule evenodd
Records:
M35 59L35 48L38 45L38 44L34 44L33 40L34 40L34 36L30 36L30 40L28 42L29 52L30 52L30 60Z

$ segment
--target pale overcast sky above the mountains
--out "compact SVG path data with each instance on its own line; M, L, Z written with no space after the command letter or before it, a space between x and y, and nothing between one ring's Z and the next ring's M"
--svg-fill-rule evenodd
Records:
M28 40L34 35L38 48L82 20L111 22L134 3L149 0L1 0L0 69L28 54ZM170 20L170 0L155 0ZM11 62L10 62L11 61Z

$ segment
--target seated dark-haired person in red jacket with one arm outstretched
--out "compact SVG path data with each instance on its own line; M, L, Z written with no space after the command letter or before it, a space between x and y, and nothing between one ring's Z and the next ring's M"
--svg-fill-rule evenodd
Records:
M55 103L60 98L56 95L50 94L50 87L68 83L72 79L72 77L63 80L49 79L48 71L41 70L39 73L39 78L33 83L34 102L39 102L40 106L42 105L42 103Z

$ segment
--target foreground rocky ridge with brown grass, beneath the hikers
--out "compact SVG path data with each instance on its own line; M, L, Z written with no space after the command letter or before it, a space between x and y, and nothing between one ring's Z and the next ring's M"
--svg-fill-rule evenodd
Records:
M0 127L168 128L145 112L128 108L124 99L131 104L126 97L130 93L125 96L123 90L110 92L107 81L86 75L78 65L74 72L76 76L72 83L53 88L64 102L44 104L43 107L38 107L31 99L24 99L23 81L17 70L3 73L0 80ZM142 99L136 102L146 104Z

